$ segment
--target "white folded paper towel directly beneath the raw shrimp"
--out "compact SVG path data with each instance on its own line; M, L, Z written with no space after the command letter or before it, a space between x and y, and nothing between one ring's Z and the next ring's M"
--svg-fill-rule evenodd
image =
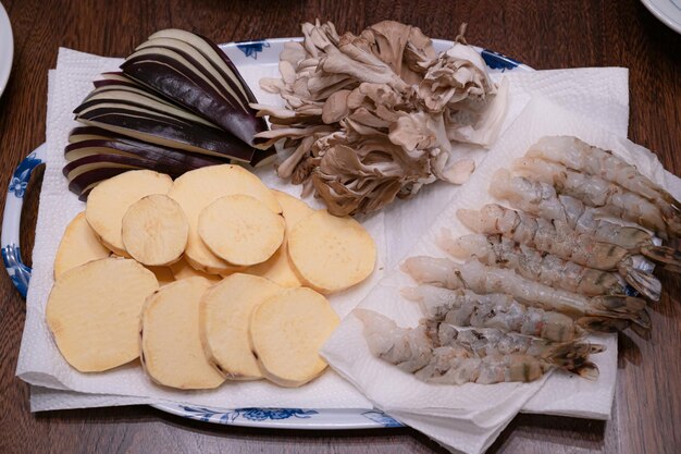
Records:
M498 203L487 194L493 173L499 168L509 167L512 159L524 155L532 144L547 135L573 135L610 149L634 163L644 175L660 183L676 197L681 196L681 180L665 171L651 151L546 98L535 97L490 150L469 182L451 196L431 225L422 232L408 256L446 257L435 244L439 231L447 228L455 236L470 233L457 219L457 209L476 209L487 203ZM389 268L386 277L372 289L359 307L386 315L399 326L416 326L422 318L418 305L401 298L399 294L401 287L412 285L414 283L407 274ZM483 452L523 408L597 419L609 417L617 373L615 334L590 338L590 341L607 346L605 353L592 356L600 371L595 381L554 371L549 377L533 383L467 383L450 386L421 382L373 357L361 330L362 323L350 315L324 345L322 356L379 408L401 418L450 449L466 453Z

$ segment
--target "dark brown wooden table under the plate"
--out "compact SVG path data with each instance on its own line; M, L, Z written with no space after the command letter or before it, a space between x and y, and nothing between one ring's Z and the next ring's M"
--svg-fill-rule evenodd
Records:
M45 140L47 71L58 47L123 57L152 32L178 27L216 41L299 35L298 24L331 20L359 32L384 19L453 39L469 23L469 42L535 69L626 66L630 70L629 137L655 150L681 174L681 36L636 0L571 1L161 1L2 0L14 29L14 66L0 98L0 182ZM498 4L504 3L504 4ZM40 175L32 182L34 188ZM26 201L32 232L37 191ZM33 234L23 238L30 256ZM681 452L681 279L660 273L666 289L652 310L648 341L620 336L619 376L608 422L521 415L490 453ZM410 429L293 432L219 427L150 407L33 415L28 385L14 377L24 300L0 279L1 453L431 453L446 452Z

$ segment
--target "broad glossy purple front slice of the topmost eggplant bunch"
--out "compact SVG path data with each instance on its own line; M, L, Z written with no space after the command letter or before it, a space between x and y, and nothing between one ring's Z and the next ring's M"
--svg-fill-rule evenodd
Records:
M126 60L121 69L131 78L159 91L175 103L222 127L245 144L252 145L253 135L262 132L261 121L248 105L238 99L227 102L206 81L177 60L165 56Z

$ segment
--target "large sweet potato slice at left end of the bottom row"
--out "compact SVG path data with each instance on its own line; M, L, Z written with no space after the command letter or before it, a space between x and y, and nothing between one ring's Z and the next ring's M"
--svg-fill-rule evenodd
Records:
M141 308L158 290L153 273L135 260L89 261L54 282L46 307L47 324L75 369L112 369L139 356Z

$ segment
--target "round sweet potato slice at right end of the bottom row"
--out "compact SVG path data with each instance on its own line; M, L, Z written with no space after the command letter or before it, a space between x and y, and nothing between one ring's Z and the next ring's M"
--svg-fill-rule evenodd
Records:
M340 320L310 289L287 289L258 305L250 318L253 353L267 379L300 386L326 368L319 349Z

